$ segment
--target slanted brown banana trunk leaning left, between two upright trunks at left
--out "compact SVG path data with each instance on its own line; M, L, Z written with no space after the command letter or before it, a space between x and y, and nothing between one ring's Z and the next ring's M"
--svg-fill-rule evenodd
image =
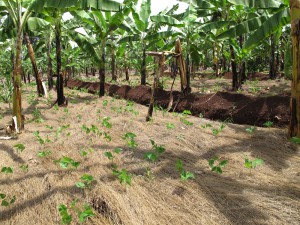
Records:
M34 77L35 77L35 80L36 80L38 95L39 96L44 96L45 92L44 92L44 88L43 88L43 85L42 85L41 76L39 74L39 71L38 71L38 68L37 68L37 65L36 65L35 54L34 54L29 36L28 36L27 33L25 33L24 37L25 37L25 41L26 41L27 50L28 50L30 61L31 61L31 65L32 65L32 68L33 68Z

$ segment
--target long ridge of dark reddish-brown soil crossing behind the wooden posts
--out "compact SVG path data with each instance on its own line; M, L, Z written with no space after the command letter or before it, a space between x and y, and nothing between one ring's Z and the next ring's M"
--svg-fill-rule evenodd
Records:
M95 93L99 83L69 80L69 88L88 89ZM135 101L142 105L149 105L151 88L148 86L130 87L105 84L109 96ZM170 91L158 89L156 104L167 108L170 101ZM214 94L192 93L181 96L178 91L173 92L172 109L176 112L190 110L192 115L202 115L212 120L231 119L237 124L263 126L266 121L272 121L276 127L284 127L289 122L289 96L255 97L230 92Z

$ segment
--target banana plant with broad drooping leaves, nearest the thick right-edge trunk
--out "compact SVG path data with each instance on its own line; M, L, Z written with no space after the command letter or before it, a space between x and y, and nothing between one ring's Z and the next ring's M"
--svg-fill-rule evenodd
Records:
M248 16L244 20L237 20L237 24L229 28L227 31L220 34L219 40L239 37L243 40L247 34L248 38L243 43L240 41L240 47L244 53L249 53L249 50L256 47L262 40L270 36L271 55L270 55L270 78L276 77L275 68L275 45L279 41L282 27L289 23L289 10L287 8L288 1L282 3L268 1L240 1L228 0L233 7L248 12Z

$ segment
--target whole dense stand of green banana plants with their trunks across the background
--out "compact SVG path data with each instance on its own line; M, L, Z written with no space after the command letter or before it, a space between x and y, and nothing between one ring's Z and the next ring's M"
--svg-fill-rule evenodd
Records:
M267 69L271 79L284 73L292 80L289 136L300 137L300 0L181 2L187 5L182 13L174 5L152 15L151 0L140 5L137 0L0 0L0 78L6 80L2 90L13 82L13 130L23 128L25 74L33 72L38 95L45 94L42 74L49 89L57 77L55 103L64 105L67 74L91 68L99 71L103 96L106 68L112 80L116 67L127 80L135 69L146 85L147 71L156 69L146 51L174 52L179 38L188 87L199 67L212 67L215 75L232 71L233 91L241 88L247 71ZM171 58L166 63L175 71L182 67Z

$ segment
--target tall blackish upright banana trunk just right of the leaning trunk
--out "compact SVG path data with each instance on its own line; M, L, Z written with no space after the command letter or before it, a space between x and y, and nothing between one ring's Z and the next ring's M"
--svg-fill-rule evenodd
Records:
M55 41L56 41L56 61L57 61L57 81L56 81L56 91L57 91L57 104L59 106L63 105L65 102L64 96L64 78L61 72L61 23L60 21L55 25Z

